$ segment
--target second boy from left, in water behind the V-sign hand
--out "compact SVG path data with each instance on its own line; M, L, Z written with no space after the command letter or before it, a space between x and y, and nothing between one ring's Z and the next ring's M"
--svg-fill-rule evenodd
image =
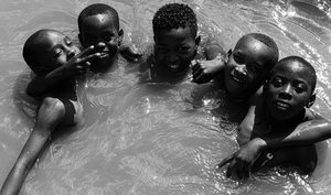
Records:
M119 28L117 11L103 3L86 7L78 15L78 39L84 48L100 45L100 57L92 62L90 69L106 73L116 67L118 52L129 61L141 56L135 47L121 45L124 32Z

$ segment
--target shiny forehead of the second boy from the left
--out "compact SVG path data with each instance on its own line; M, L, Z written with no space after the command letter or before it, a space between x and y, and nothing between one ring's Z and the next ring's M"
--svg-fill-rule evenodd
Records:
M82 28L84 31L98 30L103 28L115 29L115 19L111 14L107 13L88 15L82 20Z

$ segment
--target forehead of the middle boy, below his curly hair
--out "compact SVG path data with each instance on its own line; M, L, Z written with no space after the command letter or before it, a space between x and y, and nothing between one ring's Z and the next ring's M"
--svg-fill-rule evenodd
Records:
M161 30L156 32L154 40L157 43L175 44L182 42L194 42L189 26L171 30Z

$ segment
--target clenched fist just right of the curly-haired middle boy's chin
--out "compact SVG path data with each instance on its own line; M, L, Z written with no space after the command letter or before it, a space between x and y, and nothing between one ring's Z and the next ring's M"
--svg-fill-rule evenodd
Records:
M205 84L212 80L224 67L224 61L196 61L192 66L193 82Z

